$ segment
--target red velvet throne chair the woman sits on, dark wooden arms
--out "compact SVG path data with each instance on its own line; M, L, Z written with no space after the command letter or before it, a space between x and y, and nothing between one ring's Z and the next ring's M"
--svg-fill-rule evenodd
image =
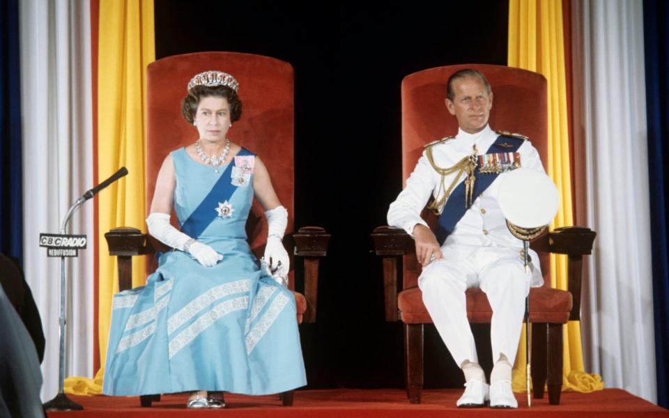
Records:
M316 320L316 293L319 258L325 256L330 235L324 229L307 226L294 231L293 196L295 172L293 164L293 68L289 63L267 56L234 52L202 52L169 56L147 68L147 144L146 144L146 213L151 206L158 170L169 151L192 144L197 130L181 116L180 100L187 93L187 84L197 73L222 70L236 77L240 84L243 114L229 132L232 141L259 153L265 162L279 201L289 212L284 246L289 254L304 261L305 291L295 292L294 272L289 274L298 309L298 323ZM176 224L176 216L172 217ZM247 221L247 235L252 250L263 255L267 222L257 201ZM132 285L132 256L153 254L166 249L148 234L132 228L117 228L105 234L109 254L117 256L119 291ZM294 262L291 260L291 267ZM149 256L147 272L155 270L155 258ZM284 405L292 405L293 392L284 392ZM160 395L141 396L142 406L151 406Z

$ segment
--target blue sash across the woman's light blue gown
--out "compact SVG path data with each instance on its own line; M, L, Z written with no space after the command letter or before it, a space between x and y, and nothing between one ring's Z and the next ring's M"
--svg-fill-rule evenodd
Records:
M240 157L244 155L255 155L246 148L242 148L239 153ZM232 194L236 191L237 186L232 184L232 167L235 166L235 159L233 158L228 167L223 171L220 178L210 192L205 196L203 201L199 204L188 219L181 225L181 231L191 238L197 239L207 226L218 216L216 214L216 206L219 202L229 201Z

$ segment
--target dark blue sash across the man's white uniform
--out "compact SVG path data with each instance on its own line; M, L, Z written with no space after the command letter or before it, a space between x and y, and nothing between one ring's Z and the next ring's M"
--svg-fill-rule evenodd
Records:
M495 139L495 142L490 148L488 148L486 154L515 153L518 151L518 148L523 145L523 142L525 142L525 139L500 135ZM502 144L504 144L504 146L502 146ZM479 171L480 169L481 167L477 164L477 167L474 170L476 181L474 183L472 202L485 192L486 189L493 184L493 181L495 181L497 176L499 176L498 173L482 174ZM448 197L444 209L439 216L434 235L440 245L444 245L446 238L453 232L456 224L460 222L460 219L465 215L467 209L468 208L465 206L465 182L462 181L451 192L451 195Z

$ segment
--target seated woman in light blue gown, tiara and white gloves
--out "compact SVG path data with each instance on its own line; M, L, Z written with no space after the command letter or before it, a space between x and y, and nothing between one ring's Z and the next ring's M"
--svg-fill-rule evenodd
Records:
M259 157L226 134L241 115L236 80L193 77L182 101L199 139L157 176L148 231L173 248L146 286L114 295L103 392L192 392L189 408L222 408L222 392L272 394L306 384L295 300L247 243L254 196L266 210L265 256L286 277L288 214ZM169 223L178 217L180 231Z

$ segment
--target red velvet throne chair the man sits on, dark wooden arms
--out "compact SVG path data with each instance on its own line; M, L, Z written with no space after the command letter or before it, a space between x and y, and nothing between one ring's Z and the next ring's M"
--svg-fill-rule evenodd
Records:
M457 121L445 106L447 80L454 72L473 68L484 73L491 84L494 100L490 125L493 130L518 132L530 137L544 167L548 167L546 79L535 72L500 65L449 65L415 72L403 79L402 97L402 178L413 171L425 144L456 134ZM431 226L436 216L428 210L424 219ZM420 403L423 386L424 324L432 323L417 287L421 268L413 239L403 229L380 226L371 234L374 251L383 259L385 318L404 324L406 389L411 403ZM560 228L532 242L539 251L544 286L530 291L532 323L532 384L534 397L542 398L548 379L548 399L560 403L562 388L562 325L580 318L582 257L590 254L594 231L587 228ZM569 291L550 287L548 253L568 254ZM398 272L401 279L398 280ZM398 286L401 286L398 294ZM490 323L492 311L480 289L467 293L470 323Z

